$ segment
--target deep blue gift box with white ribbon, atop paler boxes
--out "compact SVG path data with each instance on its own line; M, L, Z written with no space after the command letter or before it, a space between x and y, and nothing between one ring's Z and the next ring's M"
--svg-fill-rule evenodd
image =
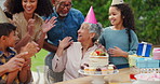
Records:
M151 51L151 44L148 44L146 42L142 42L138 44L136 55L149 57L150 51Z

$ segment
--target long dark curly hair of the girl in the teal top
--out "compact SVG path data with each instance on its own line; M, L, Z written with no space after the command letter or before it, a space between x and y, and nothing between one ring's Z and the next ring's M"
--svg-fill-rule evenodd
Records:
M134 15L132 12L132 9L126 3L122 4L115 4L111 6L116 6L117 10L121 12L121 17L123 19L123 26L126 28L126 33L129 34L129 42L131 42L131 29L135 30L135 24L134 24Z

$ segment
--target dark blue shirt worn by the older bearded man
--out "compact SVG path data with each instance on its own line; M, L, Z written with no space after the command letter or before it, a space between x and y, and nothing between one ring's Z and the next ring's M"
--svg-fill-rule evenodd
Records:
M58 40L63 40L65 37L72 37L72 40L77 41L77 31L84 22L82 13L76 9L70 9L68 15L61 19L54 9L54 13L52 13L48 18L50 19L53 16L57 18L55 27L48 32L48 42L58 46ZM43 19L45 18L46 17L43 17Z

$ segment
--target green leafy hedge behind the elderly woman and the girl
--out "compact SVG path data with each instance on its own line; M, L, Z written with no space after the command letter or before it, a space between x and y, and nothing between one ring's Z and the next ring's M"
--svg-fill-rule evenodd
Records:
M109 26L108 9L112 0L72 0L74 8L85 16L93 5L103 27ZM134 11L136 34L141 41L160 44L160 0L124 0Z

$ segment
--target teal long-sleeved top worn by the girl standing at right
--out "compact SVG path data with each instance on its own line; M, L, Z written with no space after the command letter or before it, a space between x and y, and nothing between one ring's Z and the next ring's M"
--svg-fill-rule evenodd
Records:
M131 43L129 43L129 36L125 29L112 30L111 27L107 27L99 38L99 42L108 51L109 47L120 47L122 51L128 52L130 55L135 54L138 45L137 36L131 30ZM109 60L114 65L125 65L129 64L125 57L109 57Z

